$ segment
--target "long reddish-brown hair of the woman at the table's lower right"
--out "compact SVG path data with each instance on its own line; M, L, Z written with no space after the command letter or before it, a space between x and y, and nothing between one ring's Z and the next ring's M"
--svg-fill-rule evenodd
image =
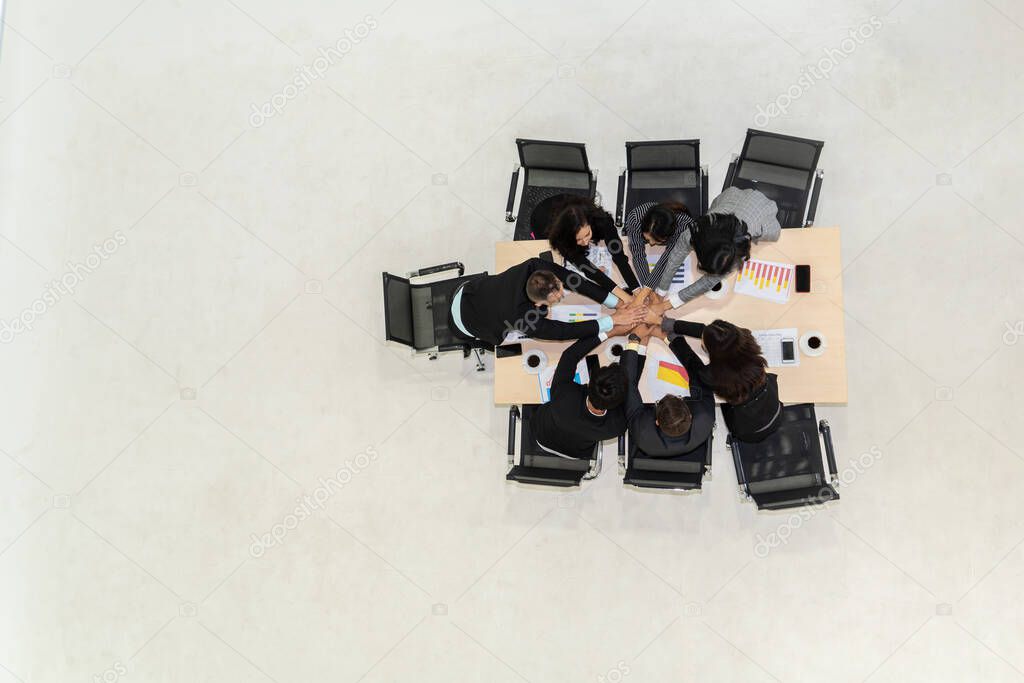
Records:
M761 347L750 330L715 321L705 327L702 339L711 360L715 393L727 403L742 403L765 383L768 361L761 355Z

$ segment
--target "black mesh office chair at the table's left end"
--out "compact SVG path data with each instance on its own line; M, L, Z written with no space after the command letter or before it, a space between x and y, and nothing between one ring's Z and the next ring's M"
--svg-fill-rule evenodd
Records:
M413 284L412 278L435 275L447 270L457 270L459 275L449 280ZM429 268L421 268L408 273L406 278L384 275L384 335L387 341L412 347L418 353L427 353L431 360L441 351L462 351L463 357L470 352L476 356L476 370L484 370L481 350L490 350L486 342L467 341L456 337L449 327L449 311L456 289L463 283L487 273L463 275L465 267L458 261Z

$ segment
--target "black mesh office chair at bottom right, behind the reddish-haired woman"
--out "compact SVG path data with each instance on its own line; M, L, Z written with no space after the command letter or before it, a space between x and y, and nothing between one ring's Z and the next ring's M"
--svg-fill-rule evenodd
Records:
M828 479L821 464L825 443ZM785 405L778 428L764 441L728 439L740 493L753 499L758 510L784 510L838 501L836 452L825 420L817 422L814 403Z

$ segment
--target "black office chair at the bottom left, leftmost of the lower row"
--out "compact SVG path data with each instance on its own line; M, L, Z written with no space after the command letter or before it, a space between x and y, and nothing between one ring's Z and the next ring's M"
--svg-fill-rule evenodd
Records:
M532 483L542 486L579 486L584 479L593 479L601 473L601 443L594 446L589 460L561 458L541 450L530 430L530 422L538 405L522 407L521 451L519 464L515 462L515 423L520 417L519 407L509 409L509 481Z

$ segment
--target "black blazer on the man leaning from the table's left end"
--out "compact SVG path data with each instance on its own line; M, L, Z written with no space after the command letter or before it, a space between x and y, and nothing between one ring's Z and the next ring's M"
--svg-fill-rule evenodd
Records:
M526 296L526 281L537 270L550 270L566 289L603 302L610 293L594 283L573 275L562 266L531 258L497 275L469 281L462 289L462 323L478 339L501 344L512 330L536 339L580 339L596 336L601 330L597 321L562 323L546 317L547 308L537 307Z

